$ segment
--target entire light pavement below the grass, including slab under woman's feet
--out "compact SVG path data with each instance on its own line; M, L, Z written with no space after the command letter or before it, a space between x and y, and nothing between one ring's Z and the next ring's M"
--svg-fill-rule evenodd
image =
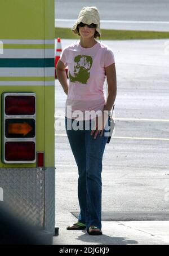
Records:
M72 42L61 39L62 47ZM79 213L78 171L65 133L66 95L56 80L56 227L60 229L54 244L169 244L168 41L103 43L112 48L117 70L115 134L103 158L104 235L66 231ZM106 96L106 83L104 91Z

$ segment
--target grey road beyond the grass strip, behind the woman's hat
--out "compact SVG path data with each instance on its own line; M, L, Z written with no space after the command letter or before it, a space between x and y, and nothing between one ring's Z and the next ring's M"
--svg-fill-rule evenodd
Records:
M101 28L169 31L168 0L55 0L55 27L72 27L84 6L97 6Z

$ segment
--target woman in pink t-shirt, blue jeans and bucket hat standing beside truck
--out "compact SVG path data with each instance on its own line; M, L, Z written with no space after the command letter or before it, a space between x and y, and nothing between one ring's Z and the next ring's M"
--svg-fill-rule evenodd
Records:
M57 78L68 95L65 127L79 174L81 212L78 222L67 229L87 228L89 235L102 235L101 171L108 140L105 131L117 93L114 55L108 46L95 40L101 35L96 7L82 8L72 31L80 36L80 42L64 48L56 67ZM69 85L65 73L67 65ZM103 91L105 76L108 81L106 101ZM89 129L86 129L86 124Z

